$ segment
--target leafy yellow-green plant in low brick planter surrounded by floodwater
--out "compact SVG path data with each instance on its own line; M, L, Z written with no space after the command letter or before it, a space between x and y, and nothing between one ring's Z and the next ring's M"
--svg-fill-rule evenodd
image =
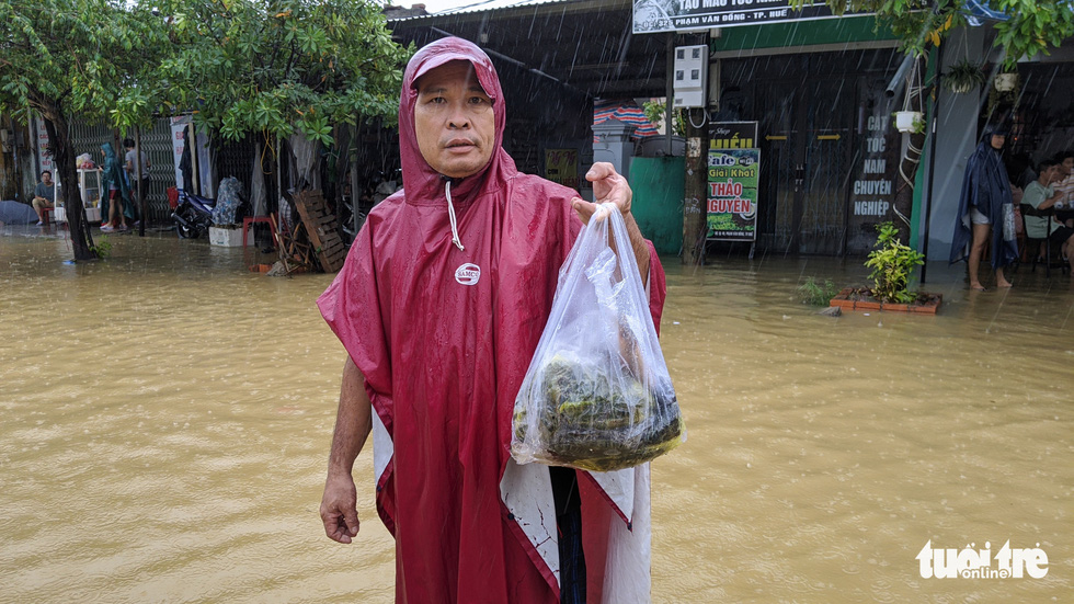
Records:
M898 310L935 315L941 296L911 292L910 276L925 263L925 257L899 239L899 229L890 223L877 225L877 243L865 265L872 269L872 287L847 287L832 298L831 306L848 310Z

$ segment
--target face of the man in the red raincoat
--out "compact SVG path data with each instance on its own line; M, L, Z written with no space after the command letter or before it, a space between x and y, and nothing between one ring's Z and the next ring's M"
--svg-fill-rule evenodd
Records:
M496 122L469 61L442 65L418 79L414 130L425 161L441 174L461 179L492 157Z

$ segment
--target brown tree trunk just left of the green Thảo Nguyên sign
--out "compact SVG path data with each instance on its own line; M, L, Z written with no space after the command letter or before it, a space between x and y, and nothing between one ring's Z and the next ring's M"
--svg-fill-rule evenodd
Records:
M705 263L705 239L708 235L708 124L705 110L692 109L686 122L686 194L683 200L683 264ZM667 123L672 124L671 116ZM695 123L701 123L695 128Z

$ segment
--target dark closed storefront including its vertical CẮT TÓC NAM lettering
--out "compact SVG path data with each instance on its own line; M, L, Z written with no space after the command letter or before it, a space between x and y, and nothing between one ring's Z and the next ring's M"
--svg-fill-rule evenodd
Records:
M864 253L875 239L872 225L896 219L901 137L890 127L893 102L884 90L902 55L893 45L781 52L788 47L758 48L749 56L716 52L721 89L716 121L758 123L758 248Z

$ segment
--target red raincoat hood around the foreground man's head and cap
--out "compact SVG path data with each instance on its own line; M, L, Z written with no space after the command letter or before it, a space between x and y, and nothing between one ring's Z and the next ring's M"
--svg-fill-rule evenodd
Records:
M415 83L425 73L454 60L466 60L473 66L478 83L492 100L495 115L492 157L478 173L452 181L450 191L455 205L468 205L475 193L494 191L505 179L517 172L514 160L503 150L503 130L507 118L500 76L492 66L492 60L472 42L458 37L442 38L422 47L407 64L407 71L403 73L402 91L399 94L399 155L402 160L407 203L445 203L445 181L449 179L434 170L418 147L418 134L414 129L414 106L418 103Z

